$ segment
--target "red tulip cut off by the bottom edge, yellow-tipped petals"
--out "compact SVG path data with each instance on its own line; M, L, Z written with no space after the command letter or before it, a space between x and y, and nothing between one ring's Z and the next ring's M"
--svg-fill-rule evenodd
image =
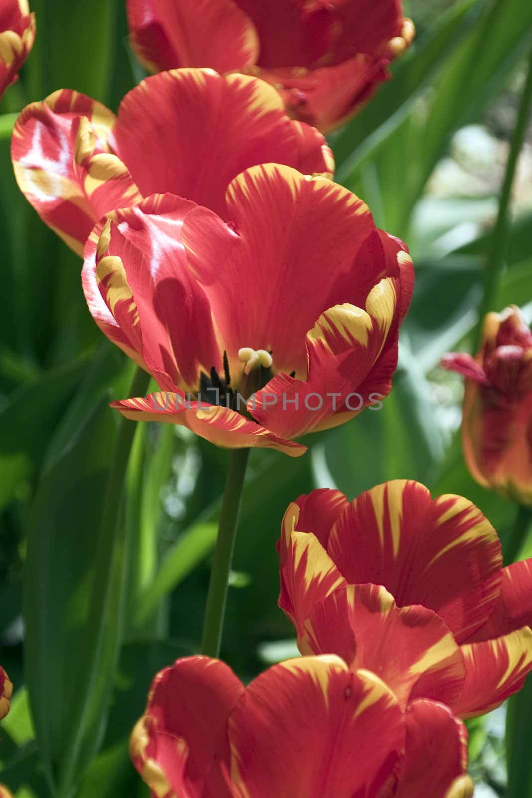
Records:
M415 701L405 714L383 681L334 656L282 662L247 687L219 660L178 660L154 679L130 752L158 798L472 794L449 710Z

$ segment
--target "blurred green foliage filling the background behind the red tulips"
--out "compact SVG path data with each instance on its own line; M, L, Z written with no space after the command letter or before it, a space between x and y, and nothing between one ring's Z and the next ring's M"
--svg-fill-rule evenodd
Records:
M309 456L251 453L223 638L223 658L246 680L296 650L276 606L275 542L302 492L336 486L351 498L408 477L435 495L473 500L503 544L514 521L514 506L467 473L462 385L439 358L471 350L532 4L406 6L418 31L412 49L330 137L337 180L412 251L416 289L400 365L384 409L310 437ZM79 259L18 191L10 130L27 102L59 88L116 110L143 73L124 0L33 0L32 9L36 45L0 106L0 662L16 690L2 723L0 780L18 798L140 798L148 792L129 764L128 734L156 670L198 649L227 452L183 429L138 425L120 523L100 531L118 429L107 403L127 395L132 369L89 317ZM529 321L531 229L527 135L493 310L514 302ZM519 551L526 555L532 535ZM508 713L471 721L479 798L532 796L530 717L532 683Z

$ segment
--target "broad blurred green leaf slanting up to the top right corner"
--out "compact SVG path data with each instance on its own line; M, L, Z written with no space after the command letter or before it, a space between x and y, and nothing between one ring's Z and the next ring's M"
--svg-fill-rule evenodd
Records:
M341 171L341 182L365 198L380 226L402 238L452 133L478 117L530 45L530 2L495 0L479 10L406 116Z

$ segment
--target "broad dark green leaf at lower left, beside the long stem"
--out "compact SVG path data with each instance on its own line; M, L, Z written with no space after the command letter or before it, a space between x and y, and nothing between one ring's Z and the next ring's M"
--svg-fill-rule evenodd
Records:
M128 364L129 368L129 364ZM114 379L111 374L115 374ZM79 679L89 667L86 645L97 558L102 496L107 480L108 452L118 418L108 408L113 385L124 381L116 369L116 353L104 346L50 444L46 467L30 512L25 582L26 684L30 694L37 742L50 785L73 734L73 717L80 701ZM86 412L89 406L89 412ZM109 646L116 646L120 615L120 575L123 546L113 554L116 585L108 604ZM103 654L95 651L94 655ZM102 677L106 674L103 673ZM112 674L111 674L112 675ZM109 676L109 674L107 674ZM100 725L105 706L94 708ZM81 729L93 745L94 729ZM80 760L89 750L79 752ZM86 760L85 760L86 761Z

